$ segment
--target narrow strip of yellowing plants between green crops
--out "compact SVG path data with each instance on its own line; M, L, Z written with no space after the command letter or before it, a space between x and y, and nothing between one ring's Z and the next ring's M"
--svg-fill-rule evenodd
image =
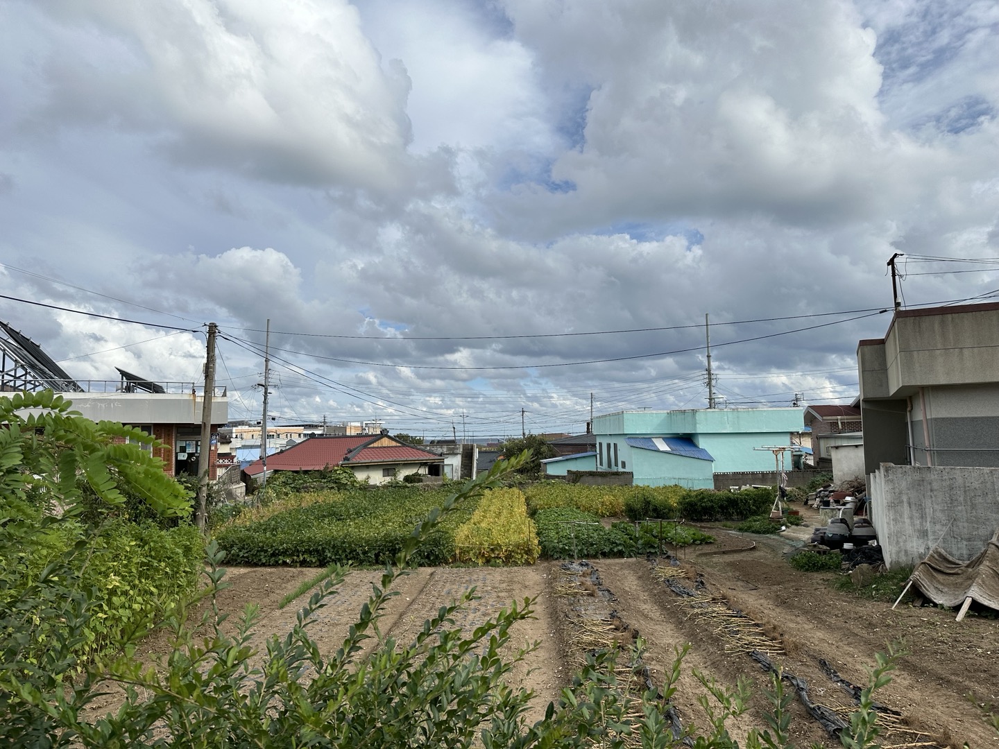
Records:
M538 553L537 530L519 489L487 491L472 518L455 533L459 562L533 564Z

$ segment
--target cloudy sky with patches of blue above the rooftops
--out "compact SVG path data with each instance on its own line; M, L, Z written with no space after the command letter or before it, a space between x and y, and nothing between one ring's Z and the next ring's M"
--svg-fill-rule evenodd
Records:
M849 402L894 254L999 299L997 49L977 0L0 0L0 320L79 380L217 323L231 419L268 320L283 422L704 407L705 315L719 405Z

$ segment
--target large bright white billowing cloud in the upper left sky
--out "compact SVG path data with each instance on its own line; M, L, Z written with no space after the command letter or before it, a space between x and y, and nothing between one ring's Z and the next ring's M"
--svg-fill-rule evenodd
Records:
M391 191L411 179L409 78L382 65L346 2L48 9L83 43L45 61L36 118L139 129L179 164L280 183Z

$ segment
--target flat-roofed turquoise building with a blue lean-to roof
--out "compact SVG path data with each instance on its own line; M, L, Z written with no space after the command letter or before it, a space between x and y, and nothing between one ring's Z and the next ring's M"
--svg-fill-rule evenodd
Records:
M595 469L629 470L648 486L711 488L714 473L773 470L773 452L757 448L791 444L803 423L801 408L616 411L593 419Z

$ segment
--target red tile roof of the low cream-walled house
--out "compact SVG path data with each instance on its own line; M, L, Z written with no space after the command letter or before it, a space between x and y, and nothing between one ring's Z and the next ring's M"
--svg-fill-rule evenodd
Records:
M441 462L443 457L428 450L397 442L394 437L388 439L396 442L391 446L369 447L371 442L381 441L386 436L382 434L361 434L352 436L314 436L304 439L281 452L275 452L267 458L267 469L272 470L322 470L345 463L368 462ZM260 460L255 460L246 467L250 475L257 475L264 470Z

